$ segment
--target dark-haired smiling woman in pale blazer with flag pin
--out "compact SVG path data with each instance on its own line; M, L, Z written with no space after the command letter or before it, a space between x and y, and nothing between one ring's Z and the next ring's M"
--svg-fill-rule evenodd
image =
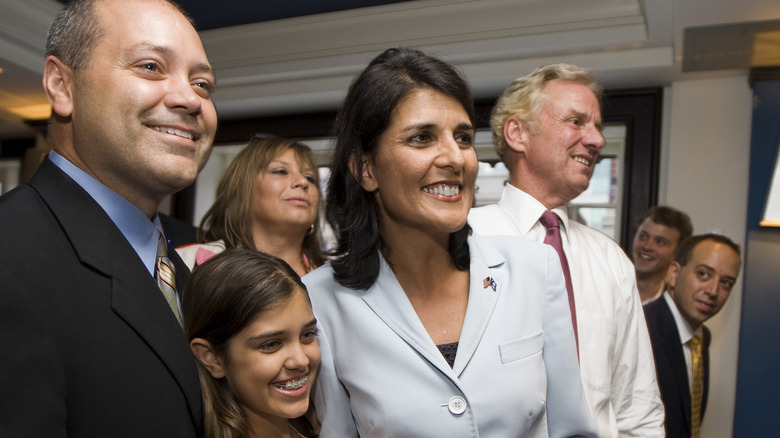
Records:
M470 236L477 157L465 80L389 49L335 124L336 259L304 277L328 437L596 436L555 252Z

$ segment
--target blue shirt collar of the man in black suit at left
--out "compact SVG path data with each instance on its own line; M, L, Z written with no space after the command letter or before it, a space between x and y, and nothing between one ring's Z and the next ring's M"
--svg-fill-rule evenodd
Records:
M49 152L49 159L100 205L125 236L125 239L130 242L149 273L154 275L154 262L157 258L157 232L158 230L162 232L159 217L155 214L154 218L150 220L136 206L57 152Z

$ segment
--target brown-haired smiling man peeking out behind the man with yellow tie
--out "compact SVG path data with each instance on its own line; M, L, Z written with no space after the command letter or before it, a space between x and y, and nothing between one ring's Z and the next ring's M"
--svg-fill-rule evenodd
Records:
M666 272L674 252L683 240L693 234L691 218L680 210L655 206L636 221L637 230L631 245L636 268L636 285L642 304L656 300L666 288Z

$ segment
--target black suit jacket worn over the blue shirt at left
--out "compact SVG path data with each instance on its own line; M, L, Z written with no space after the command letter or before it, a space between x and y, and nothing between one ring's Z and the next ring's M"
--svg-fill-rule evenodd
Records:
M197 368L165 298L48 159L0 198L0 242L0 436L202 435Z

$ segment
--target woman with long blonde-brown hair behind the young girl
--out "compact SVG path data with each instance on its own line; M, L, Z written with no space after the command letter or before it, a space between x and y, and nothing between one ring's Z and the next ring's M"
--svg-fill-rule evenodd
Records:
M304 276L324 263L320 181L308 146L256 134L220 178L201 220L201 244L177 248L190 269L226 248L274 255Z

